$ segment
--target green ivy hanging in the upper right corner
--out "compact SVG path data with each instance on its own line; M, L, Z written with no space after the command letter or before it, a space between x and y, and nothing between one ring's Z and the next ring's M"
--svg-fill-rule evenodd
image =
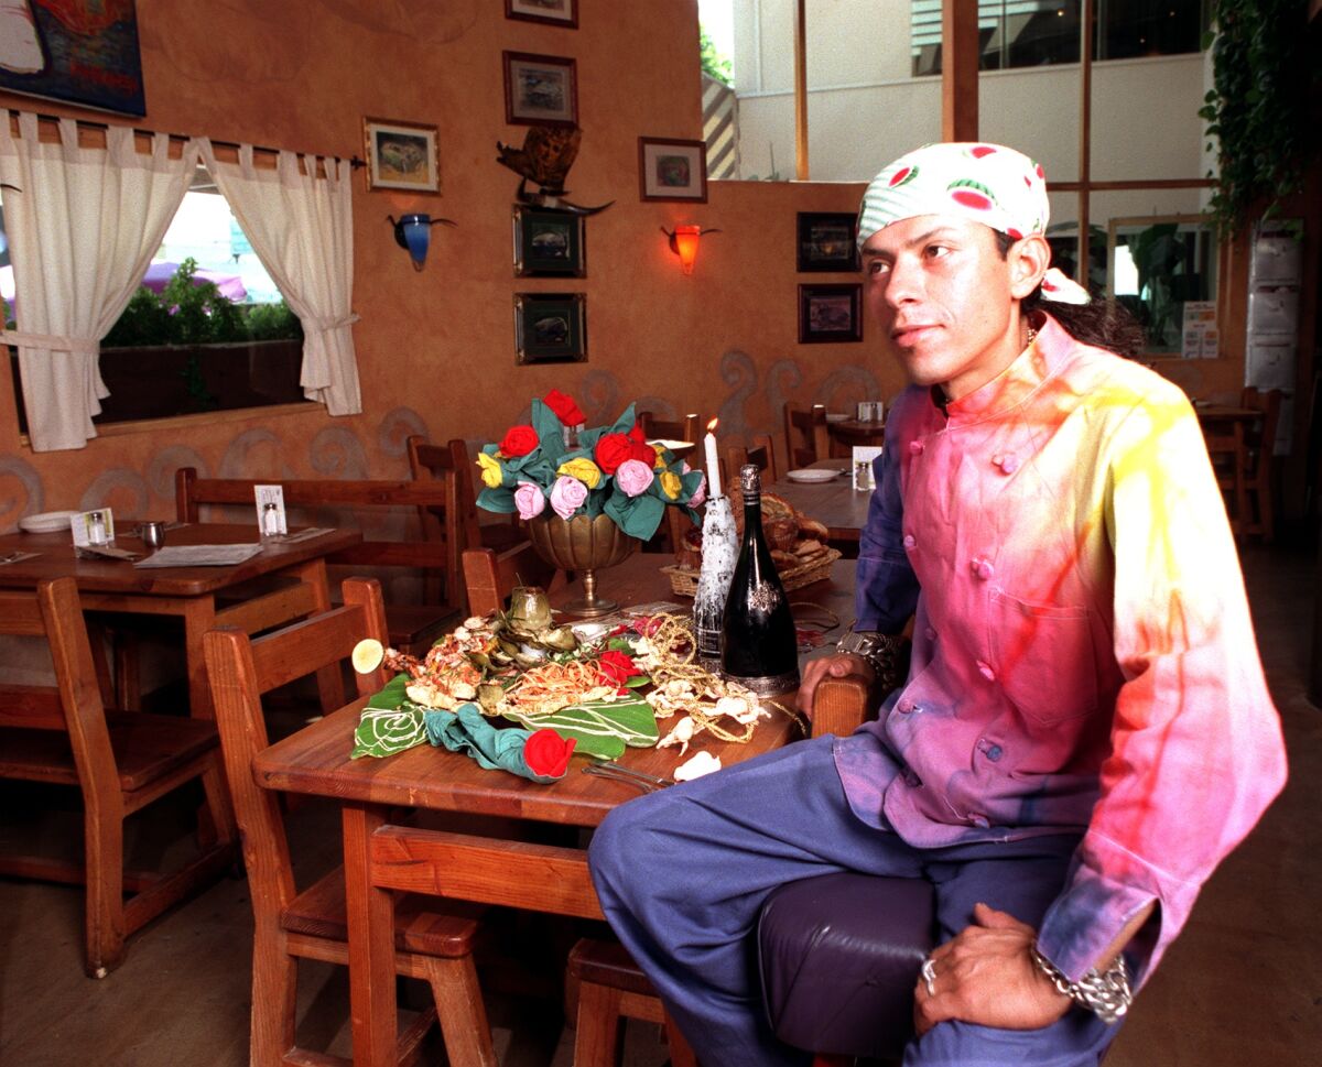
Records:
M1214 0L1214 88L1198 112L1218 140L1210 213L1223 235L1302 186L1310 129L1307 0ZM1211 144L1208 144L1211 149Z

